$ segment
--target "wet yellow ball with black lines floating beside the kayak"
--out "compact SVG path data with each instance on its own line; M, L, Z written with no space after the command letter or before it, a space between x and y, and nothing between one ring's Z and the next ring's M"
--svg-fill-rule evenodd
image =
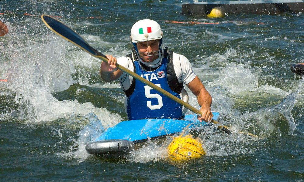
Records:
M174 137L168 146L169 157L173 160L186 160L206 155L202 140L192 138L192 135Z

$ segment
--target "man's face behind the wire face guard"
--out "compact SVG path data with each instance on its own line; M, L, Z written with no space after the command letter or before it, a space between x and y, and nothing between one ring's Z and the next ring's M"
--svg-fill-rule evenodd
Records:
M138 42L137 50L144 62L153 62L158 58L159 42L158 40Z

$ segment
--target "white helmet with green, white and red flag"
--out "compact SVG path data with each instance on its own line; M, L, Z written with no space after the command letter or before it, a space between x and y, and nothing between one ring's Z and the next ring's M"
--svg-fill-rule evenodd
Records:
M144 19L136 22L131 29L131 41L133 43L162 39L163 31L154 20ZM161 42L160 42L161 44Z

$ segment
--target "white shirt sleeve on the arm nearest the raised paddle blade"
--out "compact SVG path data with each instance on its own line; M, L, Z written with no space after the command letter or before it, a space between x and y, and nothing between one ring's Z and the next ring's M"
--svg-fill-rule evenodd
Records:
M120 66L123 66L123 67L129 69L132 72L134 71L134 66L133 66L132 60L129 59L128 57L126 57L126 56L117 58L117 63ZM125 91L125 90L130 88L131 83L133 81L133 77L126 74L125 72L123 72L120 75L118 81L119 81L119 84L120 84L121 88Z

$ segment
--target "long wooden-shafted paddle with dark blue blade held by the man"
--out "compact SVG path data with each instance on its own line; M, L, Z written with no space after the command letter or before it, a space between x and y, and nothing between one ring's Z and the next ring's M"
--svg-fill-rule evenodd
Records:
M107 57L105 57L105 55L98 52L96 49L92 48L78 33L76 33L70 27L68 27L67 25L63 24L59 20L54 19L53 17L51 17L49 15L41 15L41 18L42 18L43 22L47 25L47 27L49 27L53 32L57 33L64 39L67 39L68 41L72 42L73 44L77 45L78 47L85 50L92 56L97 57L97 58L101 59L102 61L105 61L106 63L108 63L109 59ZM192 107L190 104L185 103L183 100L175 97L174 95L167 92L166 90L156 86L155 84L148 81L147 79L144 79L143 77L137 75L136 73L130 71L129 69L127 69L123 66L120 66L117 63L116 63L116 67L118 69L122 70L123 72L127 73L128 75L132 76L133 78L138 79L139 81L143 82L144 84L146 84L146 85L150 86L151 88L157 90L158 92L164 94L165 96L169 97L170 99L174 100L175 102L181 104L182 106L186 107L187 109L191 110L192 112L197 113L202 116L201 111ZM231 133L227 126L224 126L215 120L211 120L211 122L221 125L221 126L219 126L219 128L222 128L226 133L228 133L228 134ZM250 133L248 133L248 134L252 135ZM254 135L252 135L252 136L254 136Z

